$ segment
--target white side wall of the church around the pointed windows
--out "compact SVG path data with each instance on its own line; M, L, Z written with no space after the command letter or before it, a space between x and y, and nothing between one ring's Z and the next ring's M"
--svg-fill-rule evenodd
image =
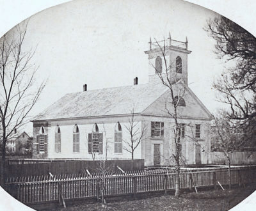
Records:
M129 141L129 133L125 129L125 124L121 123L122 126L122 136L123 139ZM103 153L95 154L95 159L105 159L106 157L106 146L108 141L108 159L131 159L131 153L126 150L122 150L122 153L115 153L115 125L116 123L97 123L99 127L99 132L103 133ZM138 123L138 127L141 124ZM92 132L93 124L77 124L79 127L79 137L80 137L80 152L73 153L73 128L74 125L60 125L61 130L61 153L56 153L54 150L55 143L55 129L56 126L49 127L48 130L48 158L83 158L92 159L92 154L88 153L88 133ZM140 130L139 130L140 131ZM123 141L123 146L125 142ZM127 146L128 147L128 146ZM134 159L141 159L141 145L136 148L134 152Z

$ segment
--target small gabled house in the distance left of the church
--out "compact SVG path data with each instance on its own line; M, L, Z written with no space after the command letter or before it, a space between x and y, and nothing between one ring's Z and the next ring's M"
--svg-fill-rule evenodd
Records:
M15 155L27 154L29 150L32 150L32 143L33 138L30 137L25 131L22 133L15 131L12 139L6 142L7 153L14 153Z

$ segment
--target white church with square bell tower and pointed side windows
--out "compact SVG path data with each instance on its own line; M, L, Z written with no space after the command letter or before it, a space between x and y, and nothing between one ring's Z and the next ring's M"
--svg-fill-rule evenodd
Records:
M212 116L188 87L188 42L168 38L164 45L164 58L176 65L177 77L182 78L173 84L174 92L184 86L178 107L182 157L186 164L211 163ZM174 119L166 110L173 102L157 75L164 66L161 48L150 42L145 53L147 84L138 84L135 78L132 86L89 91L85 84L83 91L66 94L38 114L33 120L33 158L131 159L125 149L131 151L132 125L132 139L141 140L134 159L144 159L146 166L166 164L175 150Z

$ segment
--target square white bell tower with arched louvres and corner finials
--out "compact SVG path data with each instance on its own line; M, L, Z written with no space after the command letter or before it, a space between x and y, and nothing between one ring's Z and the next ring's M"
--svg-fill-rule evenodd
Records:
M172 40L170 33L167 40L152 42L150 38L149 51L145 51L145 54L148 54L148 82L160 82L159 74L163 77L168 74L173 83L182 80L188 85L188 54L190 53L187 38L186 42Z

